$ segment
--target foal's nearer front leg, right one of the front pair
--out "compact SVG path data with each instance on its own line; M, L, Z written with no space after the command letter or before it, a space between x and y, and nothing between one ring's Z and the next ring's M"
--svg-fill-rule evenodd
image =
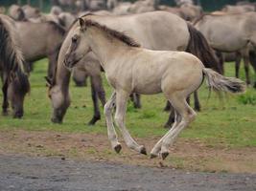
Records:
M133 149L141 154L147 155L146 148L143 145L139 145L133 138L131 138L125 125L128 97L129 94L125 91L118 91L116 93L115 121L117 126L120 128L128 148Z

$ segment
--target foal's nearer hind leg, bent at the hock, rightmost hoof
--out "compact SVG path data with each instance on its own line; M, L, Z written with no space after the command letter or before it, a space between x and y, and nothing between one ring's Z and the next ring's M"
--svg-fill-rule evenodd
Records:
M172 102L175 111L180 115L181 120L167 133L167 136L163 138L160 152L162 159L165 159L169 155L169 147L174 143L178 134L196 117L196 112L189 106L185 97L182 97L182 95L176 94L171 96L170 101Z

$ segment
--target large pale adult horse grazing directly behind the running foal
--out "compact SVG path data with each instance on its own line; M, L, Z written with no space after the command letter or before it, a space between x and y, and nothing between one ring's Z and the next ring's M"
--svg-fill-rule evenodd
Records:
M138 40L143 47L151 50L174 50L194 53L206 64L206 67L220 71L219 63L216 61L203 35L175 14L166 11L154 11L126 16L88 14L83 16L83 18L92 18L111 29L127 32ZM68 32L58 55L55 78L53 81L48 80L50 83L49 95L53 106L52 121L54 122L62 121L70 105L68 88L70 72L62 66L62 62L64 53L67 50L66 42L71 40L70 36L77 29L78 25L79 23L76 22ZM84 63L84 67L86 62L89 62L101 68L100 62L93 53L84 59L81 61L81 64ZM101 91L102 89L99 90ZM101 95L102 93L100 92L99 94ZM196 98L195 106L199 110L198 97L196 96ZM99 116L93 117L91 121L96 122L98 119Z

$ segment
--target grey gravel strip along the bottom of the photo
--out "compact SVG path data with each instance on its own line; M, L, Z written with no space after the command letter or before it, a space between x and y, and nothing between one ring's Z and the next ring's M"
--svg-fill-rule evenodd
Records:
M0 155L0 190L255 191L256 175Z

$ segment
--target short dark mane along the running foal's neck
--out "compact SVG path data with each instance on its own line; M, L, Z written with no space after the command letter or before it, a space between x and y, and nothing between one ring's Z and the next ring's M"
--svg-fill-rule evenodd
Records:
M106 32L107 34L123 41L130 47L141 47L141 45L139 43L137 43L134 39L132 39L131 37L126 35L124 32L117 32L115 30L109 29L106 26L101 25L101 24L99 24L95 21L89 20L89 19L85 19L84 21L85 21L86 27L90 27L90 26L96 27L96 28Z

